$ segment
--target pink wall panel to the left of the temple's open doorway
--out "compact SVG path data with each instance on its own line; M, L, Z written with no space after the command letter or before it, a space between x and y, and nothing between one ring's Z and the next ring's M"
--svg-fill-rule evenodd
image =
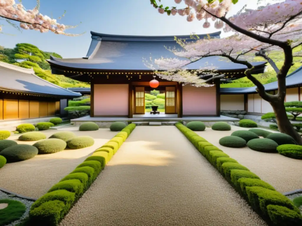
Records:
M94 115L128 115L128 84L95 84Z

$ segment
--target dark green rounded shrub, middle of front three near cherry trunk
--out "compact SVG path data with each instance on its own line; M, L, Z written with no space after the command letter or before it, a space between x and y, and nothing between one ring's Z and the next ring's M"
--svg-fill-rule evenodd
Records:
M268 138L257 138L257 139L253 139L250 140L247 143L247 146L255 151L259 151L259 152L277 152L277 147L278 144Z

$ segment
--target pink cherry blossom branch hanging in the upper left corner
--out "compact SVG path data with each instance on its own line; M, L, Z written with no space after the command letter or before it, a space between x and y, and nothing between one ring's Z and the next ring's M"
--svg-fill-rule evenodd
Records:
M65 33L66 29L75 28L76 26L69 26L59 24L56 19L52 19L46 15L42 15L39 12L40 0L37 0L37 5L32 10L27 10L22 5L22 1L16 3L14 0L0 0L0 19L6 20L6 22L13 27L20 30L38 30L41 33L51 31L55 34L62 34L66 36L79 36L82 34ZM66 12L59 17L64 17ZM20 25L16 25L11 21L20 22ZM0 33L2 33L2 25L0 24Z

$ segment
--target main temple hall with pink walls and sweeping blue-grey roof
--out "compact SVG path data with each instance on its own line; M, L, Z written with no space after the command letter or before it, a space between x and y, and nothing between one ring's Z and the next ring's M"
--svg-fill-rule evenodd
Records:
M92 41L83 58L54 58L47 60L53 74L91 83L91 117L128 117L145 114L145 92L151 90L149 81L153 70L143 59L175 58L166 48L181 48L174 36L127 36L91 32ZM200 38L208 35L198 35ZM220 32L209 34L220 38ZM194 41L190 36L178 36ZM255 62L254 74L263 73L265 62ZM222 80L244 77L245 65L208 57L187 65L197 70L211 65ZM158 70L161 70L160 68ZM164 70L163 70L164 71ZM158 89L165 92L165 114L183 116L220 116L220 79L209 87L183 86L156 77ZM153 88L152 88L153 89Z

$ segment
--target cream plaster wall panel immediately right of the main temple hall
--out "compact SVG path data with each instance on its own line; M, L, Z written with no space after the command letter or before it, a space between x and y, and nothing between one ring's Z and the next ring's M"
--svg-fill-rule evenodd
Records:
M244 95L220 95L220 110L244 110Z

